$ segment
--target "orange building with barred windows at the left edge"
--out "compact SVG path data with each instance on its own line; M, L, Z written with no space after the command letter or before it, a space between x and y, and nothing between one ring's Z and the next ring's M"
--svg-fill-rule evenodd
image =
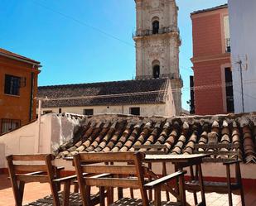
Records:
M36 118L40 62L0 49L0 134Z

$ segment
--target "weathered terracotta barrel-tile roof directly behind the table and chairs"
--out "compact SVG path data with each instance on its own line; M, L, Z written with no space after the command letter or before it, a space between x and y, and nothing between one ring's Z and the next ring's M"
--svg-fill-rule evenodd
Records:
M164 144L167 153L192 154L196 143L233 143L239 158L256 163L256 114L204 117L87 117L72 141L60 146L58 157L78 152L134 151L133 145ZM220 156L221 158L221 156Z

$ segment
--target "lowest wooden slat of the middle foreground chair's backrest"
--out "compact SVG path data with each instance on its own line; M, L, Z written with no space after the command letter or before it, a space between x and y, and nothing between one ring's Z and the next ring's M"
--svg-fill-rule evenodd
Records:
M85 178L85 184L89 186L139 188L138 180L124 178Z

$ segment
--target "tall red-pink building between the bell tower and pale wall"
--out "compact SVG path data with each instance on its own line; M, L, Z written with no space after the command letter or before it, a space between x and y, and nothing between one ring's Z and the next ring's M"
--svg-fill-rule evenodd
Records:
M191 13L196 114L234 113L228 6Z

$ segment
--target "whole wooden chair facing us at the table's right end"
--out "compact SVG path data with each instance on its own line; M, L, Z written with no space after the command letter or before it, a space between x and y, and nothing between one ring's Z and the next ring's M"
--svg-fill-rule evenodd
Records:
M210 154L209 158L205 158L204 162L222 163L225 165L227 181L204 181L205 192L216 192L220 194L229 195L229 206L232 206L232 192L239 190L241 194L241 203L244 204L244 189L241 178L239 160L239 146L234 144L196 144L196 151L194 153ZM230 175L230 165L234 165L234 181ZM198 170L196 168L196 174L194 175L193 168L191 168L191 181L186 182L186 189L192 190L194 193L195 204L197 204L196 191L200 191L198 181Z

